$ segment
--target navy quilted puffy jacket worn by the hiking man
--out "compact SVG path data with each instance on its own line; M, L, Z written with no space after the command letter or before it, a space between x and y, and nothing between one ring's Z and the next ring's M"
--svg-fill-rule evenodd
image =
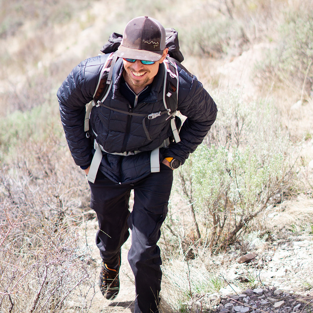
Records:
M77 65L60 86L57 96L61 121L69 149L77 165L90 165L94 153L93 143L84 131L85 105L89 103L96 90L100 71L107 54L86 59ZM190 76L178 66L179 88L177 110L187 119L179 136L181 141L172 142L167 149L161 149L160 161L164 157L177 158L182 164L207 135L216 119L217 107L211 96L195 76ZM113 71L113 85L105 100L105 105L127 110L128 101L120 94L119 84L123 72L122 60L118 59ZM151 88L150 95L138 104L133 112L152 113L164 110L163 105L164 68L160 64ZM134 156L119 156L103 152L100 170L117 183L134 182L150 173L150 151L172 135L169 120L162 115L145 122L151 141L142 126L142 117L118 113L105 107L94 107L90 114L97 142L105 151L143 151ZM124 150L124 151L123 151Z

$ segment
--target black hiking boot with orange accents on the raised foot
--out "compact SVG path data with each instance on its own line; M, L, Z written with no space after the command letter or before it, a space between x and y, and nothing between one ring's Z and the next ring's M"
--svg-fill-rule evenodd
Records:
M120 291L119 270L120 265L116 269L111 269L105 263L101 264L99 287L102 295L108 300L115 299Z

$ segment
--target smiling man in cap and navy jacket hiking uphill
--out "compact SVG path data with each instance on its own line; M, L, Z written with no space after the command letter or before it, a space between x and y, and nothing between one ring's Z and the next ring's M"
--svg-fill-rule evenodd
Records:
M100 105L92 108L87 133L85 105L93 99L111 54L81 62L58 90L69 149L88 175L90 206L98 218L96 244L103 260L100 290L107 299L119 292L121 246L130 228L128 261L135 276L135 313L158 312L162 261L157 241L167 214L173 170L203 141L217 114L202 84L178 64L178 85L170 84L166 96L177 96L177 110L187 119L179 136L175 134L175 112L165 109L163 87L174 78L176 65L166 59L165 37L164 27L150 17L138 17L126 25L118 59L111 65L112 85ZM164 64L173 69L169 76ZM100 160L94 166L97 151Z

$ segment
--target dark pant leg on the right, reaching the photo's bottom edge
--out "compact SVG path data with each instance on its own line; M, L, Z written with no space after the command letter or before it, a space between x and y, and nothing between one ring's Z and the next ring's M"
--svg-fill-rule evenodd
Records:
M151 173L134 186L134 207L129 217L132 231L128 261L135 276L135 313L158 312L162 264L160 228L167 215L173 171L161 164L160 172Z

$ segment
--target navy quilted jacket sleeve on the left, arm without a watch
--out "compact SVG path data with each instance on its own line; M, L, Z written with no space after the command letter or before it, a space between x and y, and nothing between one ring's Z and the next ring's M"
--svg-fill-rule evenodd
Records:
M92 160L91 141L84 131L86 104L94 95L100 75L97 57L77 65L57 92L61 122L74 162L87 168ZM99 58L99 57L98 57Z

